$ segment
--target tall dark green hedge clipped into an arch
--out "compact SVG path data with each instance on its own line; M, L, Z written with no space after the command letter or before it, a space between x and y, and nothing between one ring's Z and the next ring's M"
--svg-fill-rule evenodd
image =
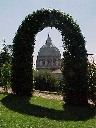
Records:
M87 51L79 26L59 10L41 9L28 15L13 40L12 90L30 95L33 90L33 52L35 36L45 27L55 27L64 43L63 76L66 103L87 102Z

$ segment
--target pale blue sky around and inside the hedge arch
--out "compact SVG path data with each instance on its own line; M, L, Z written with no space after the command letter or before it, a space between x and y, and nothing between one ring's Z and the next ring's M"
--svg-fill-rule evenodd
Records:
M96 54L96 0L0 0L0 48L4 39L6 44L12 44L25 17L41 8L57 9L72 16L85 37L87 52ZM34 62L48 34L52 43L63 53L60 32L48 27L36 35ZM96 55L94 58L96 59Z

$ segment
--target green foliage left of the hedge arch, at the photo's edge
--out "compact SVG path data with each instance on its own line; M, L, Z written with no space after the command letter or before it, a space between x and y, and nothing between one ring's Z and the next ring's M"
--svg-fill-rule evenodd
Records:
M4 44L0 52L0 86L3 86L5 91L11 86L11 61L12 55Z

